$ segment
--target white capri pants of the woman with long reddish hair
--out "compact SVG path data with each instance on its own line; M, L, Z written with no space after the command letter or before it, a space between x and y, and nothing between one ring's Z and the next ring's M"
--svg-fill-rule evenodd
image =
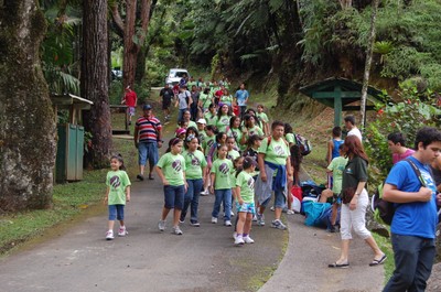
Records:
M352 239L351 230L354 229L362 239L370 237L369 230L366 228L366 208L369 204L369 197L366 190L363 190L358 196L357 207L349 209L349 204L342 204L342 214L340 219L340 234L342 239Z

